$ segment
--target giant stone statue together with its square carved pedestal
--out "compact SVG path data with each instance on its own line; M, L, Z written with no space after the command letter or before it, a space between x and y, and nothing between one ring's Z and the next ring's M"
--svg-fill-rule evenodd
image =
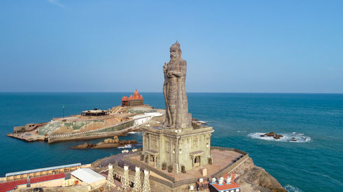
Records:
M147 166L176 174L201 167L212 161L209 126L191 125L185 89L187 63L181 59L180 44L170 47L170 61L163 66L165 83L165 122L160 126L144 126L143 159ZM183 170L183 171L182 171Z

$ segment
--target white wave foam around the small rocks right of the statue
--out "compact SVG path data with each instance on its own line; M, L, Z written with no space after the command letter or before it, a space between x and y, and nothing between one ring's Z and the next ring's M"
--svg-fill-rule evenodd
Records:
M303 133L281 133L283 137L280 139L274 139L274 137L261 137L261 135L264 135L265 133L249 133L248 137L251 137L252 139L262 139L267 141L282 141L282 142L295 142L295 143L306 143L311 141L311 137L305 136Z

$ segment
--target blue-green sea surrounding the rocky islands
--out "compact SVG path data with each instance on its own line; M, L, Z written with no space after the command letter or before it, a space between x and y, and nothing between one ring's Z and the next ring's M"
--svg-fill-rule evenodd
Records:
M0 176L8 172L91 163L122 149L71 150L84 141L27 143L5 134L13 126L49 122L64 113L109 109L132 93L0 93ZM162 93L142 93L164 108ZM213 146L238 148L288 191L343 190L343 94L188 93L193 117L213 126ZM280 140L259 137L274 131ZM296 138L296 141L292 140ZM120 139L137 139L141 133ZM92 142L102 141L95 139Z

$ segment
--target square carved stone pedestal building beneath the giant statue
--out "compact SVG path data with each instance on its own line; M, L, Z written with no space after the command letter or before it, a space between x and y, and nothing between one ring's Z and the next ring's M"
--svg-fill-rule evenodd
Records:
M213 128L143 128L144 161L156 168L179 173L212 162Z

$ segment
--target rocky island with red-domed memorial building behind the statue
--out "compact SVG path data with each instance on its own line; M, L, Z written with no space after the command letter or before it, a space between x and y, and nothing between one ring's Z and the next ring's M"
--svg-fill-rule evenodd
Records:
M131 131L140 131L141 126L150 122L154 124L154 120L158 121L158 117L164 113L162 109L143 105L143 96L139 96L136 90L134 96L123 96L121 105L112 109L95 108L82 111L78 115L53 118L50 122L14 126L13 133L7 136L27 142L48 143L114 137Z

